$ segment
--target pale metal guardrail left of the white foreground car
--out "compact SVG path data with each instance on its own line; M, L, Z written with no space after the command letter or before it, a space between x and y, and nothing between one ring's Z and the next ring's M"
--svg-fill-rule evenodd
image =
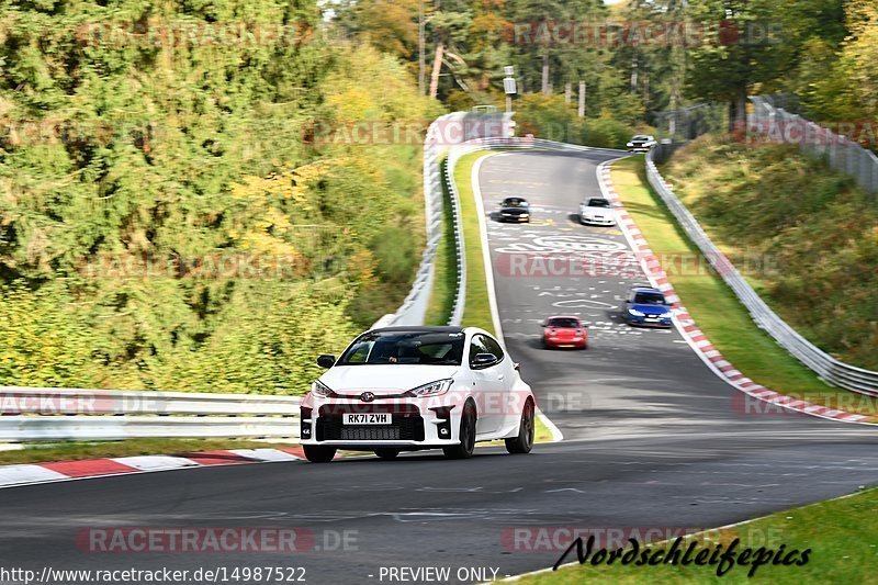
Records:
M299 436L296 396L0 386L0 440Z

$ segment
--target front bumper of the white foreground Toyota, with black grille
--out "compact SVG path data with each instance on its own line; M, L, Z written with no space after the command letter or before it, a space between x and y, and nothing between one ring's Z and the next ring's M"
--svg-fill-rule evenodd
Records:
M391 424L345 425L346 413L390 413ZM350 450L448 447L460 442L460 406L425 398L315 400L302 405L300 442Z

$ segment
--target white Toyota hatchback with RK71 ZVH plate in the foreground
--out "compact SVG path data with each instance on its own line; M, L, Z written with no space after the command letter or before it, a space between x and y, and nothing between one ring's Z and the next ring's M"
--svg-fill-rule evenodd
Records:
M477 441L506 440L510 453L533 446L536 401L518 364L475 327L386 327L360 335L302 401L301 443L313 462L338 449L441 448L465 459Z

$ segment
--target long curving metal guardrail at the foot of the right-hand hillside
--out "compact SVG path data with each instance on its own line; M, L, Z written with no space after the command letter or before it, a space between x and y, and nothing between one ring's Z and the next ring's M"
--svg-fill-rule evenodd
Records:
M836 360L787 325L756 294L756 291L747 284L738 269L713 245L695 216L667 185L655 167L652 153L646 155L646 177L652 188L677 218L686 235L689 236L689 239L698 246L711 266L717 269L717 272L725 283L734 291L741 303L750 311L756 325L768 333L804 365L817 372L824 381L845 390L878 396L878 372Z

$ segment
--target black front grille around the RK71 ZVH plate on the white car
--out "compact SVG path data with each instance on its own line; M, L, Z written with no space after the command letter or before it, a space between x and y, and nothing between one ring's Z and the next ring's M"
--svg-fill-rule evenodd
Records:
M423 441L424 418L416 406L369 405L368 412L391 413L390 425L342 425L345 412L363 413L365 405L337 404L320 407L317 417L318 441Z

